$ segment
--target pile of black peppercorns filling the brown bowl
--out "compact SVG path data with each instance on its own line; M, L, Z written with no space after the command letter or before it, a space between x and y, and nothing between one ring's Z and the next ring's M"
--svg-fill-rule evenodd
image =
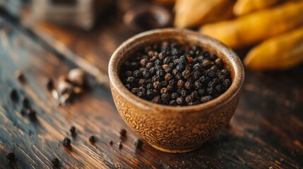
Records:
M120 79L136 96L155 104L191 106L223 94L232 83L217 55L189 44L151 44L121 66Z

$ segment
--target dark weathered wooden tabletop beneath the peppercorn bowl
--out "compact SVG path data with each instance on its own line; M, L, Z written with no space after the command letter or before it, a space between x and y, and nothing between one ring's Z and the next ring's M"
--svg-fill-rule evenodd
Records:
M113 19L115 18L115 19ZM186 154L157 151L119 116L106 85L96 85L72 104L58 106L47 92L57 79L80 66L105 80L114 49L135 35L114 15L91 32L13 20L0 15L0 168L303 168L303 65L287 71L246 70L242 98L229 127ZM239 52L243 58L245 52ZM25 73L25 82L14 76ZM17 89L19 99L10 99ZM27 96L37 120L20 113ZM76 127L76 137L69 128ZM127 130L118 148L119 130ZM88 137L95 135L95 144ZM72 149L61 142L71 138ZM109 140L114 144L109 145ZM13 151L15 161L6 154Z

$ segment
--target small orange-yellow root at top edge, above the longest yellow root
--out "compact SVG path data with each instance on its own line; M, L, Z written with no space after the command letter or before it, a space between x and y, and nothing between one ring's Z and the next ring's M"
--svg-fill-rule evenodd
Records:
M238 0L234 4L234 15L244 15L278 4L281 0Z

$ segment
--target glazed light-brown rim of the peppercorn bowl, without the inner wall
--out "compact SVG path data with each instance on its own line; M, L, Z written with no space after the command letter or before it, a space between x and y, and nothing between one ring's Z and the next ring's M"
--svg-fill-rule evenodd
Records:
M119 77L119 72L117 69L117 63L115 62L116 59L119 59L119 53L121 51L125 51L126 46L129 46L129 44L132 44L136 42L138 39L143 39L144 37L148 37L150 35L153 35L155 33L173 33L178 32L182 35L194 35L198 37L199 39L204 39L208 44L212 47L214 47L216 50L219 50L222 52L222 54L225 55L225 57L230 61L232 68L234 68L234 80L232 80L232 84L230 85L230 88L227 89L223 94L218 96L217 98L208 101L204 104L196 104L193 106L168 106L163 104L155 104L151 101L147 101L145 99L141 99L140 97L132 94L129 92L128 89L124 86L124 84L121 82ZM138 35L135 35L125 42L123 42L112 54L112 57L109 60L109 66L108 66L108 73L109 73L109 81L110 81L110 87L114 87L116 91L124 97L124 99L128 100L132 104L135 104L138 107L141 107L143 109L156 109L158 110L168 111L168 112L174 112L174 113L182 113L182 112L189 112L189 111L206 111L213 108L220 108L221 106L227 104L230 100L232 100L240 91L242 84L244 82L244 67L242 65L242 62L237 56L237 54L234 53L234 51L227 45L220 42L218 39L215 39L213 37L209 37L208 35L203 35L199 32L194 32L192 30L186 30L183 28L162 28L162 29L155 29L155 30L149 30L146 32L141 32Z

